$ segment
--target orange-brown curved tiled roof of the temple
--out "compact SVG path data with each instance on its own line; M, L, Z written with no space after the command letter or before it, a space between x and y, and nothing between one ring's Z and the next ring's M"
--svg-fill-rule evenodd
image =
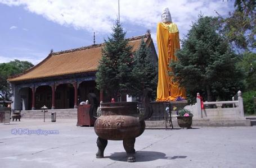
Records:
M133 52L140 47L141 38L142 36L136 36L128 39L128 44L132 46ZM150 35L146 35L144 40L147 41L147 44L152 43ZM42 62L19 76L8 78L8 81L26 81L67 74L95 72L101 59L103 45L98 44L61 52L51 52Z

